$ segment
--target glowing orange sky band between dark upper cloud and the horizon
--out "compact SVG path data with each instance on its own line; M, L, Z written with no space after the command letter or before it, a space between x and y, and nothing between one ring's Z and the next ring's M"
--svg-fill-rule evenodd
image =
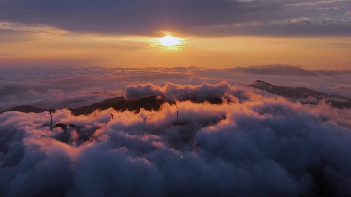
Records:
M181 44L167 47L155 37L64 31L59 34L32 32L22 36L23 41L2 43L1 65L220 68L281 63L306 69L345 69L351 63L351 38L178 36Z

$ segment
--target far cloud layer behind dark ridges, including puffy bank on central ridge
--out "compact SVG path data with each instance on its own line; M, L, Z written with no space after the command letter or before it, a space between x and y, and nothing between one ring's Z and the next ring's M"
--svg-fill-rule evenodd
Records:
M0 78L0 111L18 105L77 108L123 95L128 98L159 95L168 100L190 99L202 102L222 97L225 92L240 94L239 90L258 79L274 85L307 87L341 96L351 95L347 88L334 88L349 85L348 70L309 71L288 66L279 69L279 65L249 68L256 70L243 74L230 69L201 67L0 68L3 74ZM299 71L299 74L301 71L318 75L284 76L284 73L291 74L291 70Z

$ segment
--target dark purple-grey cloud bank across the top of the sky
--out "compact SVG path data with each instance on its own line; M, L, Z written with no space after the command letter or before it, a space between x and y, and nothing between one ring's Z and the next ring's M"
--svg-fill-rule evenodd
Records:
M349 36L349 1L2 1L0 18L73 32Z

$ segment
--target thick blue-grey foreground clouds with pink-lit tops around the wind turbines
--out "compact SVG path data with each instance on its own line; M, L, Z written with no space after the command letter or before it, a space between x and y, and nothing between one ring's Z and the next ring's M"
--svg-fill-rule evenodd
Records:
M153 85L153 84L150 84ZM222 84L223 85L223 84ZM153 85L155 86L155 85ZM138 87L138 85L136 85ZM222 89L221 84L213 89ZM231 86L231 89L236 89ZM201 94L201 92L199 92ZM246 90L242 104L0 115L3 196L348 196L351 114ZM233 96L233 95L232 95ZM323 121L318 114L330 116ZM144 121L140 115L149 115ZM41 135L46 135L42 136Z

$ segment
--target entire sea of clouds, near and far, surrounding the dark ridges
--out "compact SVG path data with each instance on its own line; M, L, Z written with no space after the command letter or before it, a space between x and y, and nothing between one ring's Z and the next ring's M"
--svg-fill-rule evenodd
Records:
M51 128L47 112L0 114L0 196L351 194L350 110L323 102L302 106L280 96L275 101L274 95L244 86L257 75L225 70L75 70L34 69L28 78L12 83L10 75L2 76L7 83L0 91L7 92L1 104L43 103L44 108L84 100L69 105L80 106L122 95L155 94L172 104L164 103L160 111L109 109L87 116L57 110L53 123L71 125L66 128ZM12 77L24 74L17 75ZM273 84L277 80L263 77ZM323 90L341 85L337 82L346 80L343 77L335 77L339 79ZM298 83L319 87L309 80ZM26 97L30 91L36 93ZM238 94L246 96L241 104ZM205 101L212 96L224 102ZM201 103L186 100L189 97ZM178 120L175 105L181 113ZM330 118L323 121L319 114ZM141 116L148 117L144 121Z

